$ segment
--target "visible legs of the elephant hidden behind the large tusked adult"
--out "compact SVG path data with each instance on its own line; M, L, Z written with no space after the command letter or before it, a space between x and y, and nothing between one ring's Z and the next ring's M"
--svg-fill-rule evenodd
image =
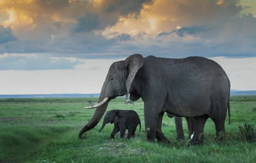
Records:
M177 133L177 140L184 140L185 136L184 136L184 130L183 130L183 125L182 125L182 117L177 117L170 113L167 113L167 116L169 118L174 117L176 133ZM188 127L189 138L190 138L195 130L195 119L193 117L190 117L190 118L186 118L186 121L187 121L187 127Z

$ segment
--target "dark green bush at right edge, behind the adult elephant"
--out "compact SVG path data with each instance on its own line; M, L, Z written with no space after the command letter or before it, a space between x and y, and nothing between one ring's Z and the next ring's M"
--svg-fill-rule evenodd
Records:
M256 142L256 129L252 124L244 123L244 126L238 126L238 135L247 142Z

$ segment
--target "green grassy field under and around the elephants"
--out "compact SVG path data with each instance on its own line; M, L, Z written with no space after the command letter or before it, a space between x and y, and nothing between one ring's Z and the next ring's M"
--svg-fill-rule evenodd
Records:
M142 131L133 139L109 141L113 124L101 133L100 123L77 139L78 133L91 119L94 109L82 100L70 99L0 99L0 163L256 163L256 132L244 122L256 125L256 96L231 97L231 124L226 118L226 140L216 141L215 126L209 118L205 124L203 145L188 145L186 120L183 129L186 140L176 140L174 118L163 118L162 130L171 145L146 142L143 102L125 105L124 98L109 103L108 110L133 109L140 115ZM245 129L239 129L239 126ZM251 136L251 138L250 138ZM254 139L254 140L253 140Z

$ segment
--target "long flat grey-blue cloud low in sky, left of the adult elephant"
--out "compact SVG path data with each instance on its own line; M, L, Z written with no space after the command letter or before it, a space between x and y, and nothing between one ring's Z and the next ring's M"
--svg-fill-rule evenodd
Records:
M54 59L48 55L10 55L0 57L0 70L49 70L74 69L84 64L79 60L71 61L65 58Z

